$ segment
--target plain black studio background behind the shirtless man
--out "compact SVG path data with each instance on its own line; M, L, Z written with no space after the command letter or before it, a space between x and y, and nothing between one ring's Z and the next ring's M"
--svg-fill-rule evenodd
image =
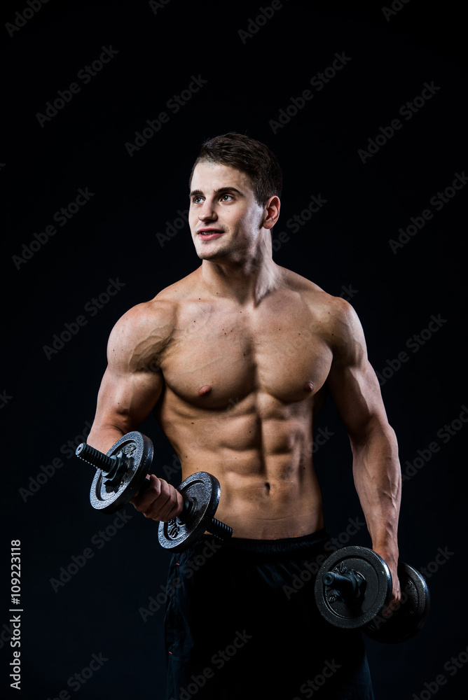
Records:
M249 21L261 6L270 7L50 0L31 18L27 12L27 21L15 15L29 8L26 2L4 10L2 25L24 25L10 32L1 27L8 331L0 386L6 447L0 655L1 685L8 689L9 551L10 541L20 539L22 684L15 697L46 700L64 690L82 700L164 696L163 610L144 621L139 609L148 609L149 598L161 593L169 555L157 544L156 524L132 506L123 509L128 524L111 528L102 546L97 533L114 517L90 507L92 470L77 463L67 443L81 442L92 422L113 324L198 266L187 225L165 240L157 234L165 234L177 211L188 207L188 174L200 143L230 130L266 142L282 165L276 262L350 300L371 362L385 379L383 398L408 477L401 559L426 570L429 564L432 612L423 631L403 645L366 640L376 698L460 698L467 686L462 444L468 428L459 419L468 416L462 413L468 404L467 188L450 190L440 211L429 204L452 186L455 173L468 168L462 6L410 0L394 3L400 9L385 17L378 2L291 0L267 22L259 20L257 29ZM255 33L241 36L249 27ZM78 71L109 46L118 52L109 63L87 84L78 79ZM322 90L311 87L312 76L343 52L350 60L336 76ZM193 76L207 82L174 113L167 101L186 90ZM41 126L37 114L74 82L80 92ZM421 95L424 83L440 89L406 120L399 109ZM271 120L303 90L314 97L273 129ZM161 111L168 123L130 156L125 144L134 144L135 132ZM363 162L359 149L395 118L401 129ZM55 212L76 200L78 188L94 194L18 262L27 254L23 244L29 247L35 232L54 223ZM287 221L308 207L311 195L321 195L326 204L293 234ZM399 228L425 209L432 219L394 253L389 240L397 240ZM109 280L121 288L106 297ZM102 294L105 303L97 309L91 300ZM85 325L65 334L62 347L56 341L56 351L47 350L78 316ZM408 347L432 316L443 319L439 328ZM395 369L401 352L408 359ZM450 435L443 426L452 423ZM315 454L326 525L343 533L350 517L362 519L349 443L333 407L325 407L318 425L334 433ZM178 484L177 460L156 421L145 421L141 429L157 444L157 473ZM437 451L428 452L434 442ZM430 459L424 461L418 450ZM419 466L411 467L418 457ZM48 468L54 459L62 463L55 473ZM365 528L349 543L369 545ZM61 568L87 548L91 558L54 590L51 579L57 582ZM446 555L436 563L439 548ZM207 624L212 614L207 611ZM67 681L89 666L92 654L108 660L75 691ZM462 667L453 673L450 659L460 654ZM320 696L326 697L326 687Z

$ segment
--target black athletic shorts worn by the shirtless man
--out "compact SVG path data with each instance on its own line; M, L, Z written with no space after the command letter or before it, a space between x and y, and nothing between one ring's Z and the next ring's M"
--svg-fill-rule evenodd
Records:
M281 540L199 540L167 582L167 700L373 700L362 634L317 612L321 530Z

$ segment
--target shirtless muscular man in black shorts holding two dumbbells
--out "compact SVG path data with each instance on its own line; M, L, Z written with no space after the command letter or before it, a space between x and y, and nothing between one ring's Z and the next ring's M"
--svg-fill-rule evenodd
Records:
M372 547L392 573L391 605L400 598L397 440L387 421L355 311L343 299L273 262L271 233L280 214L280 194L280 168L263 144L226 134L202 147L191 174L189 212L193 244L202 265L153 300L130 309L116 323L88 438L93 447L107 451L154 412L179 456L182 479L207 471L221 484L216 517L233 528L233 538L225 545L216 545L221 551L210 559L205 556L198 574L180 577L168 605L167 697L180 696L181 700L195 692L196 700L239 698L241 691L234 688L235 682L245 668L255 673L254 649L257 658L263 654L263 666L273 666L259 668L256 675L260 680L252 697L260 697L259 692L279 700L289 700L294 694L311 697L312 679L319 675L331 679L326 680L328 694L323 692L323 700L373 697L360 633L331 626L325 629L314 613L296 610L296 598L293 601L284 596L287 576L292 580L294 573L304 570L304 562L319 551L317 540L322 546L326 539L311 449L314 419L326 392L350 437L355 487ZM155 475L132 503L145 517L155 520L170 520L182 510L180 493ZM202 544L206 547L205 540ZM281 555L279 547L283 547ZM300 556L295 547L301 550ZM302 547L309 549L302 551ZM192 548L187 556L196 556L196 551ZM261 585L253 583L255 577L276 580L279 576L277 571L271 573L271 568L268 573L252 573L252 559L266 561L273 551L277 556L274 564L282 572L287 566L284 552L296 557L294 567L277 584L277 598L271 597L271 590L253 591ZM170 580L184 553L174 558ZM222 573L225 565L233 567L230 579L240 573L232 590L226 573ZM312 605L313 582L306 588ZM280 597L282 602L278 602ZM238 599L239 605L233 602ZM267 617L261 615L261 622L257 619L249 627L249 615L255 615L266 601L275 609L270 607ZM205 610L205 617L199 612L192 615L192 608L206 607L210 602L212 609ZM228 622L219 622L232 606L238 617L226 612ZM174 620L179 613L184 617L182 622ZM310 645L306 654L312 664L309 670L301 664L290 668L293 659L301 655L297 647L303 645L297 638L284 643L284 635L298 634L289 627L294 615L309 616L309 629L303 629L302 634ZM273 625L268 626L268 617L275 620ZM183 629L184 624L188 629ZM294 624L300 631L305 618ZM205 637L197 625L205 625ZM264 626L268 629L259 641ZM276 631L280 636L267 650ZM231 642L236 655L234 660L225 654L229 663L224 661L221 670L223 656L214 652L228 649L224 640ZM283 652L295 646L294 654L276 657L279 640L283 640ZM346 646L352 650L349 673ZM360 655L356 656L357 647ZM317 660L312 658L315 652ZM288 668L278 675L282 658L287 659L284 664ZM230 675L226 675L228 667ZM338 677L344 678L343 685L335 687ZM346 678L351 678L350 685L346 685ZM242 697L250 697L247 691L254 681L250 683L245 675L240 680ZM268 695L275 689L277 694Z

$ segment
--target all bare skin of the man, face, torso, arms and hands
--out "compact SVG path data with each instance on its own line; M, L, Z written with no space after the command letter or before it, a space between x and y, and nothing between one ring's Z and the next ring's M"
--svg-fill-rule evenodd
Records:
M181 461L221 484L216 517L233 537L301 537L324 526L312 463L315 416L335 403L373 549L401 594L397 440L350 304L273 262L280 200L256 202L248 176L202 161L189 224L202 265L116 323L88 443L102 451L151 412ZM182 510L155 475L132 499L145 517Z

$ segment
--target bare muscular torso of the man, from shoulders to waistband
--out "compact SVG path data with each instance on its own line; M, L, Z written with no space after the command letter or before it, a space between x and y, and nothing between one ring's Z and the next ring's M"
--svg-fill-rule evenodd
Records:
M207 295L199 271L156 297L174 304L156 416L182 477L203 470L219 479L216 517L234 536L298 537L323 526L312 428L331 367L331 300L287 270L255 307Z

